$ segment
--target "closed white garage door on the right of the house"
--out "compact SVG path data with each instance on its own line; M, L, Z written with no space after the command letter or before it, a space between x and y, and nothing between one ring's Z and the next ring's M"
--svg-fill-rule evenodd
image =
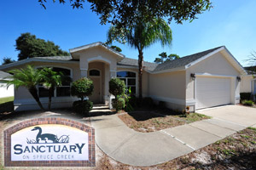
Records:
M231 103L230 78L196 77L196 109Z

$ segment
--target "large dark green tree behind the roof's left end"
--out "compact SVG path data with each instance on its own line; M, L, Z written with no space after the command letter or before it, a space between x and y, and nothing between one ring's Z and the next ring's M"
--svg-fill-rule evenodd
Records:
M46 42L44 39L37 38L29 32L22 33L16 39L15 47L16 50L20 51L18 60L32 57L69 55L69 53L62 51L59 46L55 45L54 42Z

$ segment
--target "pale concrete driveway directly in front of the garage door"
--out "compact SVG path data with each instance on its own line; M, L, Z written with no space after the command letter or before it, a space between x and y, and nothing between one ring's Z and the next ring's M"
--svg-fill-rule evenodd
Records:
M196 112L244 127L252 127L256 124L256 108L252 107L224 105Z

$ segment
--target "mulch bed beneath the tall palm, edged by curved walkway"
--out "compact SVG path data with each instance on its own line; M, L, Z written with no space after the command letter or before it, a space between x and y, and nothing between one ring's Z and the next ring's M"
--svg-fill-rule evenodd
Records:
M210 117L197 113L190 113L189 116L185 117L172 111L133 111L119 115L119 118L128 127L138 132L149 133Z

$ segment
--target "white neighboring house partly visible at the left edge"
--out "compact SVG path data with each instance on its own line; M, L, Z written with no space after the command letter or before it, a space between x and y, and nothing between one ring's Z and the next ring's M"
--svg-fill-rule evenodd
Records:
M6 82L3 82L3 80L9 80L6 77L11 77L11 75L7 72L0 71L0 98L11 97L15 94L14 86L11 85L7 88Z

